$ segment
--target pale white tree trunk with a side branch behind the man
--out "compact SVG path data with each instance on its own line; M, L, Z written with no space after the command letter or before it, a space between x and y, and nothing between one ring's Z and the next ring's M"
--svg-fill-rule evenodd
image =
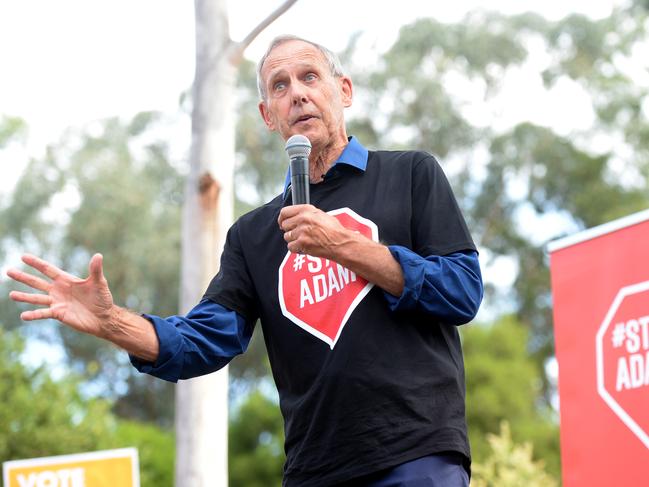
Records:
M182 225L180 306L186 313L216 274L232 224L234 88L243 51L297 0L285 1L242 42L229 38L227 2L195 0L196 74ZM228 373L176 388L176 487L227 486Z

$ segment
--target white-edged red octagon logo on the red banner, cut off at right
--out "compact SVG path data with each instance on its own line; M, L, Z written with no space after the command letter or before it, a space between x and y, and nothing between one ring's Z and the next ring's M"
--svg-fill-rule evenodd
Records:
M649 281L620 289L596 347L597 392L649 448Z

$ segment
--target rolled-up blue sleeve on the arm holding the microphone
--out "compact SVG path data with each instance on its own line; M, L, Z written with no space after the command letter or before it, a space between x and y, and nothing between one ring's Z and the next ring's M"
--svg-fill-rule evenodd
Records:
M404 277L401 296L384 292L392 311L419 309L453 325L475 317L483 296L476 251L422 257L399 245L389 249Z

